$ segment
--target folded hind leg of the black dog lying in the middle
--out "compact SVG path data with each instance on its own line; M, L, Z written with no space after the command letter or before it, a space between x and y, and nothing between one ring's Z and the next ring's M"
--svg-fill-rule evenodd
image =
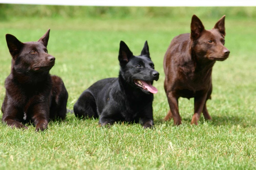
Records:
M97 114L95 98L89 91L84 91L74 104L74 113L77 117L93 117L94 119L99 117Z

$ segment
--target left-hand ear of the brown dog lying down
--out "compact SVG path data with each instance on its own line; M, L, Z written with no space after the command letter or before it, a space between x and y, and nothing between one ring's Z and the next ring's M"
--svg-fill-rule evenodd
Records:
M20 52L20 49L23 47L23 43L11 34L6 34L5 38L10 54L15 59L16 55Z

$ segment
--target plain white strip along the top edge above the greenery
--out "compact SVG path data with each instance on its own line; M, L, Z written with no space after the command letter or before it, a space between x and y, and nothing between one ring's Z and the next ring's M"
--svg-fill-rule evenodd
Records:
M76 6L256 6L256 0L0 0L3 4Z

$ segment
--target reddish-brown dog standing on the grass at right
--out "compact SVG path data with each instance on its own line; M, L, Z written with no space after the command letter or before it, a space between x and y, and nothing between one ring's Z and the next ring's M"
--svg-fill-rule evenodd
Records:
M173 118L180 125L178 98L194 98L194 115L191 124L198 124L201 112L210 120L206 101L211 98L212 67L216 61L228 58L225 44L225 15L211 30L205 30L200 19L193 15L191 33L173 38L164 57L164 89L170 110L164 120Z

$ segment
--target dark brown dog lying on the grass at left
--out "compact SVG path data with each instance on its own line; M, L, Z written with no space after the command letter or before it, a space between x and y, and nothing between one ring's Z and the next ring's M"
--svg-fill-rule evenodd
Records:
M11 127L27 128L32 121L36 130L47 128L49 119L65 119L68 92L60 77L50 76L55 57L47 52L50 29L37 42L20 42L6 34L12 55L12 68L5 80L6 96L2 121Z

